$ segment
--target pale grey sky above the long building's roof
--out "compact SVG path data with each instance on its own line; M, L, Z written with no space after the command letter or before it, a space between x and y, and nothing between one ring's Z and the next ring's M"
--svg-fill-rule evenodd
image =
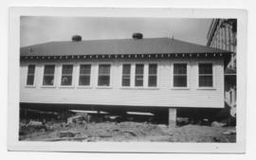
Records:
M52 41L172 37L193 44L207 43L211 19L21 17L21 46Z

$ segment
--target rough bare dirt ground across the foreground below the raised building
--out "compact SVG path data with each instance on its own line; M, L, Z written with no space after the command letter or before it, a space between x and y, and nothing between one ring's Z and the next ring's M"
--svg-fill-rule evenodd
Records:
M230 131L232 131L230 133ZM168 128L138 122L20 124L22 141L224 142L236 141L234 127L185 125Z

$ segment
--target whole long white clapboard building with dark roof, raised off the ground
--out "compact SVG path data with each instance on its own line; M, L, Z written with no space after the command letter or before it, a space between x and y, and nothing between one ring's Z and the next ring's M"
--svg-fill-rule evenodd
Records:
M146 111L175 124L180 108L224 108L230 52L171 38L50 42L21 48L20 104Z

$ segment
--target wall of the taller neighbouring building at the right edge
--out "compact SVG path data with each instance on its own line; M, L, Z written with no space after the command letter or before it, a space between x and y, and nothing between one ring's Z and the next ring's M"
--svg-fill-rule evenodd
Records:
M236 107L236 21L232 19L212 20L208 33L208 46L233 52L225 73L225 101L230 107L231 116L235 116Z

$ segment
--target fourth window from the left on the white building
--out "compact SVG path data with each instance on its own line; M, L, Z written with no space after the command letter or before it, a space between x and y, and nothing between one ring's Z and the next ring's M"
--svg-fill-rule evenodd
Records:
M79 85L90 85L90 80L91 80L91 64L81 64Z

